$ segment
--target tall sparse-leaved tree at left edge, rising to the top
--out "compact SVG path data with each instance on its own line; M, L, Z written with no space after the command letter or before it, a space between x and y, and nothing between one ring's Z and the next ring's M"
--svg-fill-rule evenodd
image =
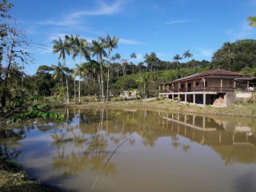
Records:
M33 62L27 51L28 41L26 33L18 29L17 22L8 12L12 3L2 0L0 2L0 100L2 107L6 106L6 96L10 94L10 72L13 66ZM3 60L3 58L6 58Z

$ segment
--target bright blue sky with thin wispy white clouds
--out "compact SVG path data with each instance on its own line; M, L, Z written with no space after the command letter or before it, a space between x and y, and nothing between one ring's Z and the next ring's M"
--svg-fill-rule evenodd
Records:
M175 54L190 50L193 59L211 61L224 42L256 37L256 28L246 18L256 15L256 0L9 0L10 14L26 30L32 43L27 49L34 64L57 65L53 40L78 34L88 42L107 34L119 38L120 54L129 62L143 62L155 52L162 61L173 62ZM130 54L137 54L131 59ZM192 58L190 58L192 59ZM78 60L78 59L77 59ZM60 60L62 62L62 60ZM183 59L182 62L187 62ZM74 66L71 56L66 65Z

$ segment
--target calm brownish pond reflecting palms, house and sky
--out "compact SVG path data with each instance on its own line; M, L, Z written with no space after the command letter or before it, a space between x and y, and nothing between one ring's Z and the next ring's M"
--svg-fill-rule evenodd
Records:
M90 191L98 176L94 191L102 192L256 191L254 118L65 113L65 122L1 128L2 151L31 177L65 190Z

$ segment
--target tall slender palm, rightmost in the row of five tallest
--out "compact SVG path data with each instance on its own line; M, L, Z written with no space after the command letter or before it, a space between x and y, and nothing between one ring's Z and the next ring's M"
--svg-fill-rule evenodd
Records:
M113 38L111 38L109 34L106 36L106 46L109 49L109 55L108 55L109 63L107 66L107 82L106 82L106 102L109 101L110 53L112 49L118 48L118 41L119 41L119 38L116 38L115 36Z

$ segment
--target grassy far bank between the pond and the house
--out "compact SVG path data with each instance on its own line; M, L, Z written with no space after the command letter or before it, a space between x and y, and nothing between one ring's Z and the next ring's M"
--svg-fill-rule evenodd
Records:
M71 104L70 107L77 107L80 109L103 108L103 109L147 109L147 110L166 110L169 112L182 112L193 114L210 114L210 115L230 115L239 117L256 118L256 104L245 103L227 107L217 106L202 106L193 104L186 104L182 102L170 102L165 100L158 100L153 102L90 102Z

